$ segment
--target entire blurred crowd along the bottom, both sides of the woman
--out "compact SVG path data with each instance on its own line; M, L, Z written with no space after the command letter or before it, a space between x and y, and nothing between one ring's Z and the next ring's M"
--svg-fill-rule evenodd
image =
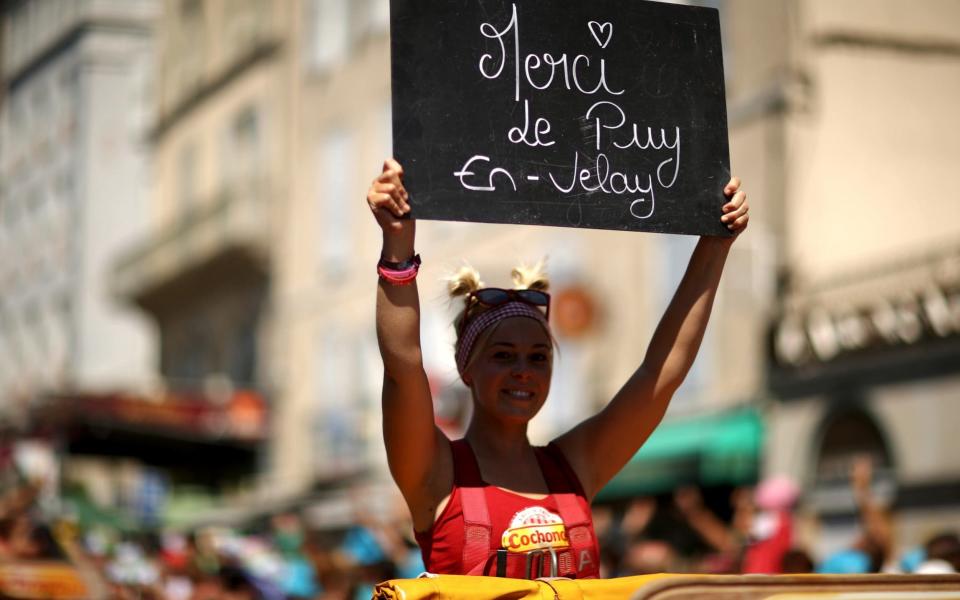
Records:
M847 548L815 557L796 532L800 491L773 477L733 490L715 512L695 487L595 509L605 577L646 573L955 573L960 537L944 531L899 549L891 515L870 491L870 466L851 475L859 533ZM346 529L311 530L296 512L243 529L120 533L44 519L39 485L0 499L0 566L59 561L92 597L157 600L370 598L373 586L416 577L423 563L405 511L358 514Z

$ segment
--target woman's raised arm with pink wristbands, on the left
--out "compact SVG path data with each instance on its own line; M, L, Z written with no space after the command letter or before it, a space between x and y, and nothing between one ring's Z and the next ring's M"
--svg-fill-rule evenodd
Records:
M403 186L403 168L387 160L367 192L383 231L381 258L403 263L415 254L416 222ZM383 439L394 481L418 531L433 523L433 509L452 485L449 442L436 427L420 350L420 298L416 280L377 286L377 341L383 358Z

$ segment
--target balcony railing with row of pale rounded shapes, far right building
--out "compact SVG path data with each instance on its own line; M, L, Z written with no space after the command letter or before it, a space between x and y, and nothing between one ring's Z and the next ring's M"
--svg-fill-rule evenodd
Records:
M771 322L769 351L771 385L782 395L828 381L955 372L960 247L786 295Z

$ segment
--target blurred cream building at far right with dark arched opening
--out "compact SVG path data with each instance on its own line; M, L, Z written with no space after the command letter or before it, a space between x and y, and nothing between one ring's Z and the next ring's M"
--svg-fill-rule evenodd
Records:
M725 6L735 165L776 237L765 471L804 484L822 556L870 456L895 542L922 543L960 522L960 6Z

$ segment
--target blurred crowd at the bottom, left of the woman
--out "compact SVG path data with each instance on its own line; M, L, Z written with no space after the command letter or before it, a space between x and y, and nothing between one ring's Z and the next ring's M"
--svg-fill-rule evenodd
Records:
M69 518L40 517L39 487L25 484L2 500L0 567L69 564L92 598L368 599L376 583L423 571L402 517L357 515L349 528L321 531L305 527L296 512L243 528L84 530Z

